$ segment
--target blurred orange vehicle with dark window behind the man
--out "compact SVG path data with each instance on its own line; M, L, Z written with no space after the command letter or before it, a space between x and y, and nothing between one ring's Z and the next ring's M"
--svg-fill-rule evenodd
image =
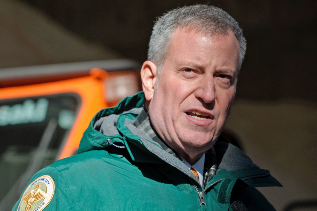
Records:
M141 90L133 60L0 69L0 210L39 169L72 156L100 110Z

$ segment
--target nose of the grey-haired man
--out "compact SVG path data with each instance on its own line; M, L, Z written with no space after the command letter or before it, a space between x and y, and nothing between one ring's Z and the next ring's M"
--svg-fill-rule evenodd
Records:
M199 81L195 97L204 103L212 103L216 99L215 83L213 77L204 76Z

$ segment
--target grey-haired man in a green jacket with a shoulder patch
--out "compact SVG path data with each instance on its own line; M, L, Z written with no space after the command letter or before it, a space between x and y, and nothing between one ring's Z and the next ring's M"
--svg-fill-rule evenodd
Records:
M172 10L153 28L143 92L101 110L76 156L31 179L13 210L275 210L280 186L220 133L246 49L223 10Z

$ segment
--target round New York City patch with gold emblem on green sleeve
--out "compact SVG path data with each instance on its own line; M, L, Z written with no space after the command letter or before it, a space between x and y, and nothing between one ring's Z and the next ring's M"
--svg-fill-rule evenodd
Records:
M55 190L53 179L40 176L25 189L17 211L40 211L52 200Z

